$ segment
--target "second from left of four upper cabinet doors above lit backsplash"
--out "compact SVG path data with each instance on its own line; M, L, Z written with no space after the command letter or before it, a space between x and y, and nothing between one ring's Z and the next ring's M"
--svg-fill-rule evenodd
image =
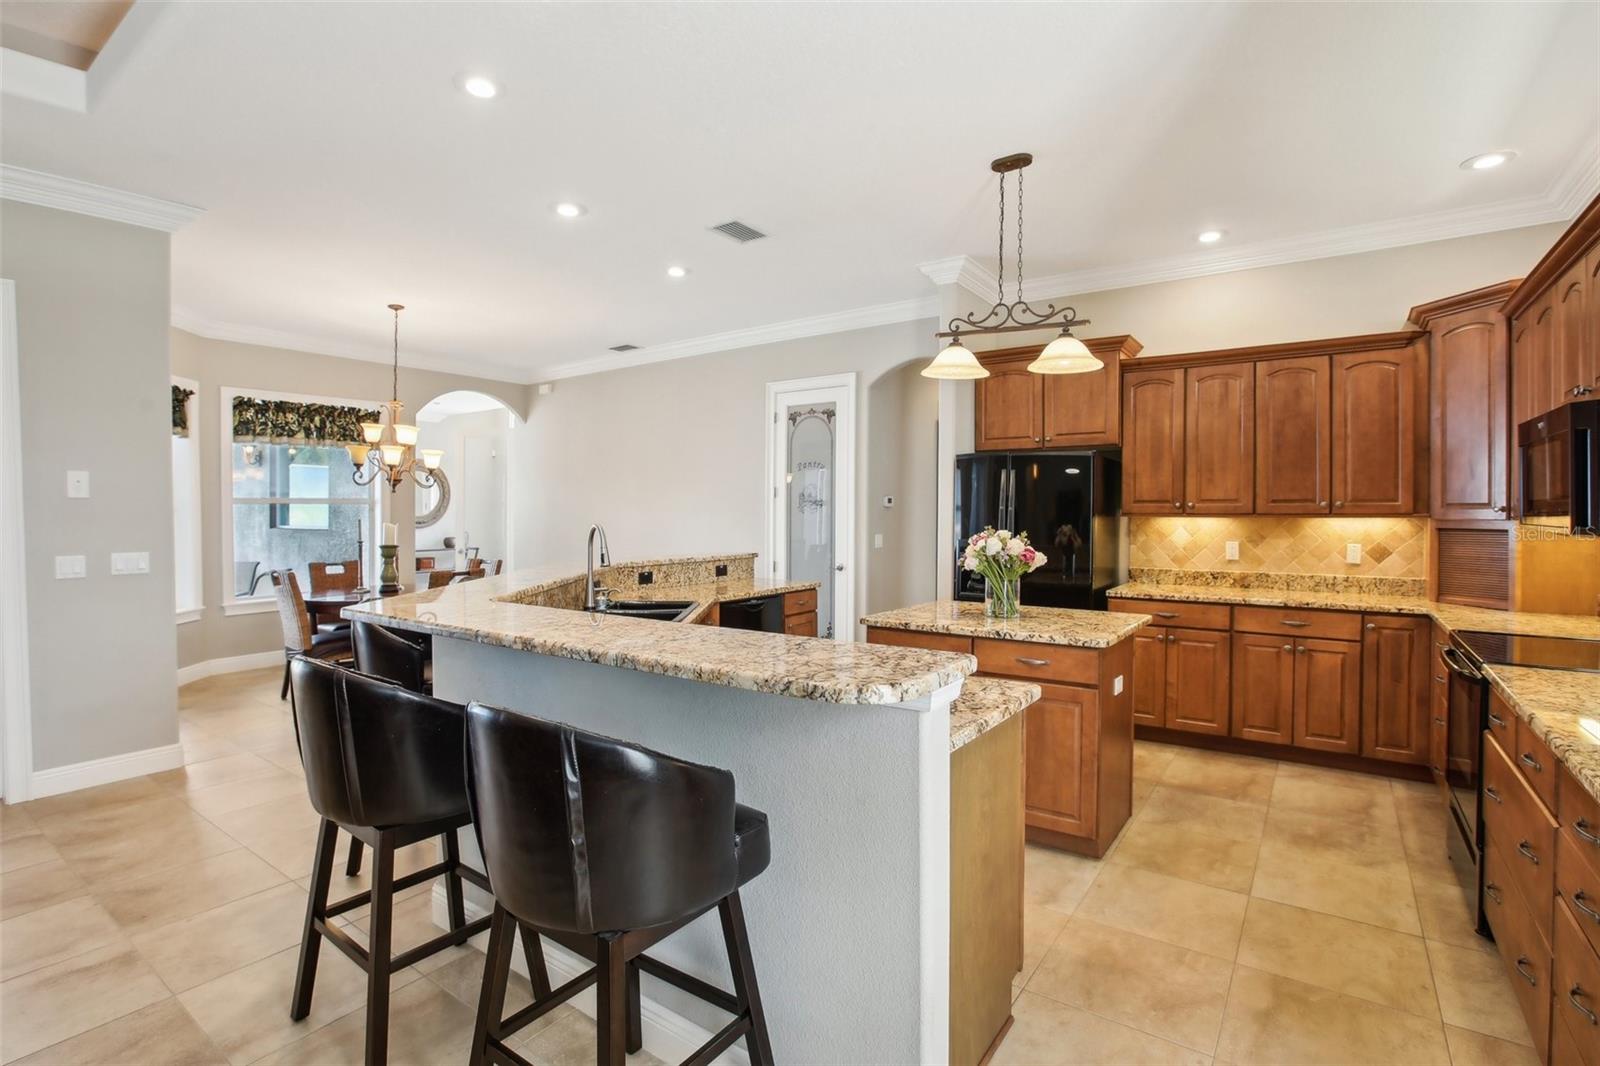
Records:
M1184 512L1250 514L1256 501L1254 365L1190 367L1184 386Z

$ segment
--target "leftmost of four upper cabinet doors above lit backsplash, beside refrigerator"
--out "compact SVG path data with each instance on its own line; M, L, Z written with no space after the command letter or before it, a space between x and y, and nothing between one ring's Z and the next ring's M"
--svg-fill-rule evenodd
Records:
M1123 375L1122 509L1181 514L1184 491L1184 371Z

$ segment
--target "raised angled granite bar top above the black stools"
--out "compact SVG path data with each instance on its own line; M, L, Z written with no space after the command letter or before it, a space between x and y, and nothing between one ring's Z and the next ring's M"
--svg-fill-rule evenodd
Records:
M603 663L710 685L746 688L822 703L885 704L918 699L962 682L978 669L970 655L846 643L595 615L526 602L565 600L582 573L554 567L464 581L442 589L370 600L344 608L346 618L397 629L477 640L584 663ZM717 583L718 599L742 599L806 586L773 586L749 578ZM691 599L694 586L648 586L661 599ZM694 592L704 595L706 589ZM632 589L618 594L630 599ZM581 603L581 595L578 603ZM696 600L699 602L699 600Z

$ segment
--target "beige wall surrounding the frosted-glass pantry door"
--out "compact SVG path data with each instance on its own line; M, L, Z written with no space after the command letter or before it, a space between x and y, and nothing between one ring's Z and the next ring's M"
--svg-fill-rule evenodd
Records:
M854 371L856 611L931 599L938 391L917 373L931 333L906 322L557 381L512 434L512 479L530 487L514 495L515 557L581 568L592 522L618 560L765 554L766 383Z

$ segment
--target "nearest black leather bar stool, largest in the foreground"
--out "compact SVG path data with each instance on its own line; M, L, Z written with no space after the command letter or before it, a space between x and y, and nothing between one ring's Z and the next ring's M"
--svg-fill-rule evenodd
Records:
M597 1061L619 1066L643 1044L640 972L734 1016L688 1063L709 1063L744 1037L750 1063L770 1066L739 887L766 869L771 842L766 815L734 802L731 773L474 703L467 797L494 892L472 1066L526 1066L507 1037L590 984ZM722 917L733 994L645 954L712 908ZM517 927L534 996L506 1018ZM552 991L530 927L595 967Z

